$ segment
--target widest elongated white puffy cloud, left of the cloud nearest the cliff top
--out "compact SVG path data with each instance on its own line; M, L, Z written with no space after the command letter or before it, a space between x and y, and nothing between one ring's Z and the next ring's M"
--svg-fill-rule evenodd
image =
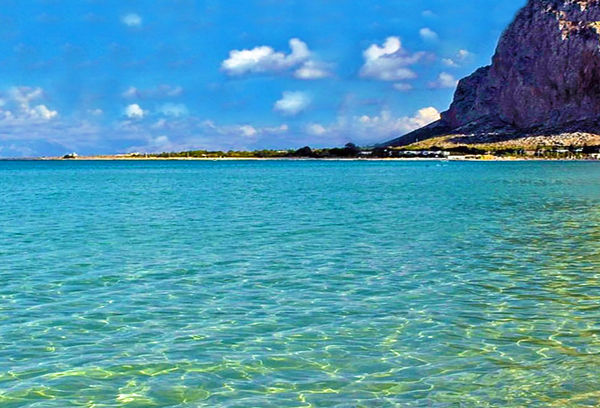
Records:
M275 51L269 46L255 47L251 50L233 50L229 58L223 61L221 69L231 76L249 73L283 72L295 69L298 79L321 79L331 76L329 66L311 59L308 45L298 38L289 41L291 53Z

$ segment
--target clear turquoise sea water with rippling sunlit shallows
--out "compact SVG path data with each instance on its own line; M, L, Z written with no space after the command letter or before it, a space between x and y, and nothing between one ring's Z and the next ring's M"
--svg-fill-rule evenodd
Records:
M0 407L600 404L600 164L0 162Z

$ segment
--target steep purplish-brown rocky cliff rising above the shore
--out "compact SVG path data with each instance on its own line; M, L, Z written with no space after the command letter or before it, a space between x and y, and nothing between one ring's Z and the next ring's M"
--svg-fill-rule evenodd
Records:
M459 82L442 119L388 144L595 127L598 118L600 0L529 0L503 33L492 65ZM584 130L600 133L600 127Z

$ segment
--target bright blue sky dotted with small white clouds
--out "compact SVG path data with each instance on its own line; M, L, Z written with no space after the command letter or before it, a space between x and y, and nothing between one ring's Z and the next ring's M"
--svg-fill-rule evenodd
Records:
M2 0L0 157L368 146L439 118L525 0Z

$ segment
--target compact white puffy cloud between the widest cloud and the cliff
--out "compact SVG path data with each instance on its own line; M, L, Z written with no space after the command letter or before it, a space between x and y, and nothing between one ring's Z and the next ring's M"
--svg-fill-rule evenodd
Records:
M365 64L360 75L363 78L381 81L414 79L417 74L408 67L419 62L424 56L423 52L410 54L402 47L399 37L389 37L383 47L373 44L363 52Z

